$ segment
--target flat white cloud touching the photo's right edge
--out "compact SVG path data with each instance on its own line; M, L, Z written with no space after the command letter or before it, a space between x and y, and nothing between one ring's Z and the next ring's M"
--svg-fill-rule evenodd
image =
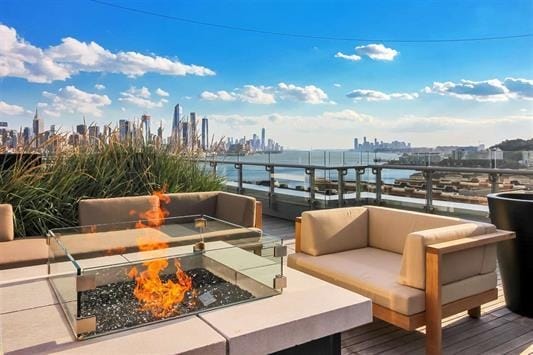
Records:
M484 81L461 80L459 83L434 82L431 87L425 87L423 92L481 102L533 99L533 80L506 78L504 81L490 79Z

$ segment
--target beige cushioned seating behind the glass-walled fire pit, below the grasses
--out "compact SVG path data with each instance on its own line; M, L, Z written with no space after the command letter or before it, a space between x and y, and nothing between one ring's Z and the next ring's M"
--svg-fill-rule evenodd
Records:
M260 228L262 227L261 203L255 198L231 194L221 191L192 192L168 194L164 209L168 210L168 217L207 215L235 224L235 228L224 227L219 231L204 233L204 240L243 240L251 250L260 249ZM103 199L84 199L79 202L80 235L75 243L68 247L77 256L90 257L103 251L123 252L134 251L137 248L135 238L131 233L108 231L86 234L93 225L105 225L115 222L138 221L149 211L160 207L157 196L130 196ZM238 226L247 227L248 230ZM184 236L183 230L173 230L179 226L161 226L158 230L150 231L157 234L163 242L190 244L199 240L198 235L191 232L191 236ZM105 228L104 228L105 229ZM83 232L83 233L82 233ZM144 231L146 232L146 231ZM172 238L173 233L180 232L179 238ZM64 241L68 243L68 241ZM0 205L0 269L38 265L46 263L48 246L44 236L14 239L13 210L11 205Z

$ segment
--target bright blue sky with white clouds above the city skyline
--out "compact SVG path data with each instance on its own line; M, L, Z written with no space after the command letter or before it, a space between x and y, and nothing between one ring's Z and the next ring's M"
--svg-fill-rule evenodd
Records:
M532 138L532 19L531 0L0 0L0 121L149 114L168 135L179 103L296 149Z

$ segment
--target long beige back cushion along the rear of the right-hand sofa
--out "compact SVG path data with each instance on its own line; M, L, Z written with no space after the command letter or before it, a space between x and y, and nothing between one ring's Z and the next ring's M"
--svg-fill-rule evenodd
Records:
M464 223L459 218L436 216L427 213L402 211L393 208L367 206L368 244L402 254L405 238L412 232Z

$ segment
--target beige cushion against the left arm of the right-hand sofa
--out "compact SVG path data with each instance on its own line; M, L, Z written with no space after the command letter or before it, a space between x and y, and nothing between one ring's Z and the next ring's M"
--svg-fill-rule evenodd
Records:
M302 213L301 250L323 255L368 245L368 211L364 207Z

